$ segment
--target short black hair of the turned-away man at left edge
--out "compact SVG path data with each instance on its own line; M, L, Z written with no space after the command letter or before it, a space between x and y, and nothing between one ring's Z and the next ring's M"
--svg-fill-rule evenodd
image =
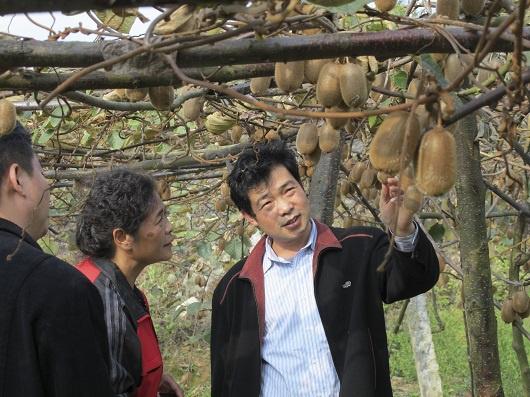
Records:
M17 122L13 131L0 136L0 184L11 165L18 164L29 175L33 175L33 148L29 132Z

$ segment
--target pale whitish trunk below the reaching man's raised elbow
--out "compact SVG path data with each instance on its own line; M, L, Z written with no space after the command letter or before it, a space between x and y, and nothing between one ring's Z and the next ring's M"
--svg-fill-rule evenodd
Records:
M410 342L414 352L421 397L443 397L442 380L432 342L425 294L410 299L407 310Z

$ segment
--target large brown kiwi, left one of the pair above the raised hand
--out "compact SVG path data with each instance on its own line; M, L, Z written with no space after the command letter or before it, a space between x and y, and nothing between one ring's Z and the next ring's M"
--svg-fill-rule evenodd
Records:
M405 138L407 140L402 155ZM399 171L401 157L403 157L404 165L413 159L419 141L420 124L418 118L409 112L391 113L381 123L370 144L370 162L378 170L395 174Z

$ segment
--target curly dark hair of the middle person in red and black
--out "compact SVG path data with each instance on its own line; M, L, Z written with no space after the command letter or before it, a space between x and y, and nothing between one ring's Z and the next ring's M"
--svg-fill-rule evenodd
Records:
M99 175L77 221L76 244L85 255L111 258L112 231L135 236L149 215L156 192L153 178L125 168Z

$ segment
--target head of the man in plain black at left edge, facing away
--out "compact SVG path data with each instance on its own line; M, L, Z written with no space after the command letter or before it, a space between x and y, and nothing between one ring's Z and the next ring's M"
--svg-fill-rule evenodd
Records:
M33 239L48 230L49 184L19 123L0 136L0 217L23 228Z

